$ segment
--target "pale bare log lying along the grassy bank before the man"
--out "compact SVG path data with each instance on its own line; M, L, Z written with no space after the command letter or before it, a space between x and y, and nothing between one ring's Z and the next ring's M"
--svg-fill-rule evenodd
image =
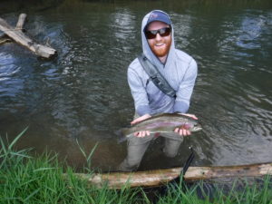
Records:
M88 180L92 185L102 187L106 184L112 189L128 187L158 187L180 176L181 168L165 170L148 170L137 172L113 172L105 174L87 175L76 173L76 176ZM240 166L219 167L189 167L184 180L211 180L228 177L258 177L272 175L272 163L250 164Z

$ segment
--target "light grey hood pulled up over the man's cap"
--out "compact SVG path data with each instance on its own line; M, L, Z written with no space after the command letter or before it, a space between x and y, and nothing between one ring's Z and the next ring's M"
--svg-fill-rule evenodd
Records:
M157 10L157 11L160 11L160 10ZM154 53L152 53L150 45L148 44L148 41L147 41L147 39L145 37L145 34L144 34L144 28L147 25L148 19L149 19L149 17L150 17L150 15L151 15L152 12L153 11L151 11L149 14L145 15L143 17L143 19L142 19L142 22L141 22L141 44L142 44L142 52L151 61L151 63L153 63L158 68L160 68L160 69L167 68L168 66L170 66L170 63L172 63L172 60L174 59L174 57L173 57L174 53L175 53L174 28L173 28L173 25L170 24L171 25L171 29L172 29L172 31L171 31L172 43L171 43L171 46L170 46L170 52L168 54L167 61L166 61L165 64L160 63L159 58ZM160 12L166 14L163 11L160 11Z

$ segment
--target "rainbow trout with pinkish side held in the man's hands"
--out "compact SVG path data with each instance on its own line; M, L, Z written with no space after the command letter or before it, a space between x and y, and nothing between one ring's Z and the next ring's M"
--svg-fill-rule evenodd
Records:
M202 127L198 120L192 119L189 116L180 113L160 113L144 121L140 121L130 128L122 128L119 131L115 131L115 134L122 139L119 141L125 141L126 138L131 137L134 132L138 131L150 131L151 133L157 132L173 132L176 128L183 127L188 131L201 131Z

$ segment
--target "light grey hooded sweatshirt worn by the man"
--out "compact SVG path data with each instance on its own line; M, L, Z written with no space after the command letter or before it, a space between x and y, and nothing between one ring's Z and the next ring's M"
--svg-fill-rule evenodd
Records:
M175 49L172 25L170 53L166 63L160 63L159 58L152 53L143 32L150 15L151 13L145 15L141 23L142 52L150 59L151 63L157 66L160 73L177 92L177 97L174 99L161 92L151 82L149 75L143 70L141 63L136 58L128 68L128 83L131 88L135 110L140 116L147 113L151 115L162 112L185 113L189 110L189 100L198 73L197 63L189 54Z

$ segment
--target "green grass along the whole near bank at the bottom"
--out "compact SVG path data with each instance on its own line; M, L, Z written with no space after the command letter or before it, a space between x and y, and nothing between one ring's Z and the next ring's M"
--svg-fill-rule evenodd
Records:
M31 150L15 150L19 134L10 144L0 138L0 203L247 203L272 204L272 182L268 176L262 182L246 183L243 188L233 184L226 190L216 187L212 195L203 182L182 189L181 182L168 187L166 194L160 190L98 189L74 175L74 170L58 161L57 154L44 152L32 157ZM84 157L90 163L92 152ZM90 162L89 162L90 161ZM86 169L90 168L88 164ZM66 177L63 174L66 173ZM92 174L92 171L88 173ZM200 195L199 195L200 194Z

